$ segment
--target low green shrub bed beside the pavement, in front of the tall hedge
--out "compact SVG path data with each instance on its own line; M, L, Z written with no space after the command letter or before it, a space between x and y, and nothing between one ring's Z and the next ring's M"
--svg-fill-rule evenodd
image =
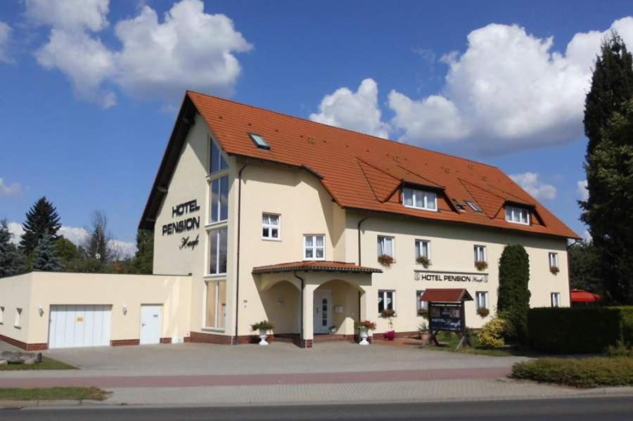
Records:
M633 385L633 358L541 358L516 363L512 377L575 387Z

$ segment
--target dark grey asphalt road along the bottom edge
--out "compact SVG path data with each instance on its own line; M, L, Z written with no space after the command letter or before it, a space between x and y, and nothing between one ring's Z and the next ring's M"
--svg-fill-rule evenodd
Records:
M239 408L0 410L0 420L633 420L633 397Z

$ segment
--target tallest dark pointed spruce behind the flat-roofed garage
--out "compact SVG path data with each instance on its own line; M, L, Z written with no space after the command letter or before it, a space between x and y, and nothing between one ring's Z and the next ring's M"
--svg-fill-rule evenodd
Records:
M57 209L46 200L46 197L41 197L27 212L23 228L20 250L28 256L35 250L45 233L51 235L53 241L57 240L57 231L61 228Z

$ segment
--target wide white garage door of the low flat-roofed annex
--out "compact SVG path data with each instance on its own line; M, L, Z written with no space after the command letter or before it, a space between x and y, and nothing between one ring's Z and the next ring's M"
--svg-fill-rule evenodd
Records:
M112 306L51 306L49 348L110 346Z

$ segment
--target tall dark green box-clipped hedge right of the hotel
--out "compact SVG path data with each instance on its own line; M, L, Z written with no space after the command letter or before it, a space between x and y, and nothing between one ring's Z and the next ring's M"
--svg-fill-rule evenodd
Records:
M596 354L633 344L633 306L539 308L528 313L530 348L549 354Z

